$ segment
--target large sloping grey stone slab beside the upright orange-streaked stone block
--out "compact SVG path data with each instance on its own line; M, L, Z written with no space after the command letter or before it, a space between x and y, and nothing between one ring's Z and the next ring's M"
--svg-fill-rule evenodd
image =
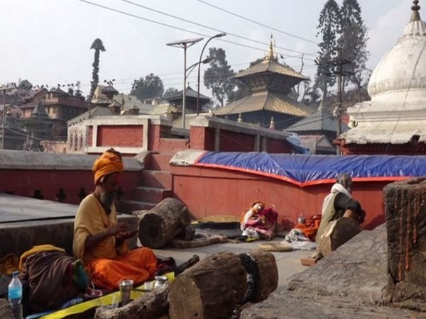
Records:
M247 308L241 319L426 318L426 313L383 306L387 284L386 226L364 230L285 288Z

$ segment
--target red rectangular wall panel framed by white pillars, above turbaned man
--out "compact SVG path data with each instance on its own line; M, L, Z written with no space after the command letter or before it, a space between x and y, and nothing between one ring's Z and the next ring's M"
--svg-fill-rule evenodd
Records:
M142 147L143 125L99 125L97 146Z

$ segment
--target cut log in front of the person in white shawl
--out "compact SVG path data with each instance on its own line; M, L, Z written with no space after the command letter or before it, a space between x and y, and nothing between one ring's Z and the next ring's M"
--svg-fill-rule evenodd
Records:
M323 256L337 250L352 237L361 233L361 226L354 218L339 218L329 222L320 238L319 250Z

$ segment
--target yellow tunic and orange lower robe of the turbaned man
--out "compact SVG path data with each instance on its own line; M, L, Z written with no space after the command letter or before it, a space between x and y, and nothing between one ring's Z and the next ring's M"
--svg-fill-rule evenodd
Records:
M93 194L83 199L75 216L74 255L83 260L93 283L101 289L117 289L124 279L142 283L157 270L157 258L152 250L143 247L129 251L126 240L116 247L119 234L108 237L89 252L84 250L87 236L102 233L117 222L115 206L107 215Z

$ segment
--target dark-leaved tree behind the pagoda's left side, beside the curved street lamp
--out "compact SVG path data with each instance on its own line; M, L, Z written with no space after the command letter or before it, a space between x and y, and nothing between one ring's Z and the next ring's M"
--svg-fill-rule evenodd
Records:
M204 85L212 89L214 98L219 101L220 107L224 107L224 102L229 99L236 85L232 79L234 70L228 65L226 53L221 47L210 47L208 57L210 67L204 72Z

